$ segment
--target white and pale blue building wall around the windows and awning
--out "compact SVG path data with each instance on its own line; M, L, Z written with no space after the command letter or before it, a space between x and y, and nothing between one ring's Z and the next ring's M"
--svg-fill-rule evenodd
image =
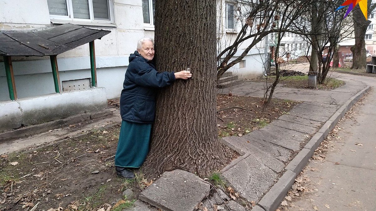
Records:
M0 57L0 131L102 108L106 105L105 99L120 96L129 54L136 50L139 39L153 37L154 30L144 24L141 0L110 0L110 8L112 23L93 26L77 20L70 21L92 29L111 31L102 39L95 40L97 86L103 88L55 93L49 57L15 56L12 57L12 65L18 100L10 101L5 65ZM225 11L218 11L218 18L224 20ZM0 30L41 29L54 23L68 21L52 20L47 0L0 0ZM218 34L226 45L235 36L236 32L228 33L226 30ZM244 42L235 56L239 56L241 48L246 48L251 41ZM261 75L264 71L264 48L264 41L258 43L257 48L244 57L242 67L235 65L232 68L234 72L240 78ZM57 61L61 84L63 81L91 78L89 44L59 54Z

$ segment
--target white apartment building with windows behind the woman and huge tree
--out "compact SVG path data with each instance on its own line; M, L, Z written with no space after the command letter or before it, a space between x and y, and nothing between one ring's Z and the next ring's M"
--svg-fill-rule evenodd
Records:
M239 6L237 1L218 0L218 39L222 43L230 43L237 35ZM119 97L129 54L136 50L139 39L154 36L154 11L154 0L0 0L2 32L41 30L67 23L110 31L94 41L96 87L85 90L67 91L62 86L91 81L89 44L57 55L59 93L54 87L50 57L12 56L10 80L0 56L0 131L98 109L106 106L107 99ZM265 48L265 42L258 48ZM264 51L251 50L244 62L230 71L240 78L261 75L264 55ZM12 86L17 91L14 100L10 97Z

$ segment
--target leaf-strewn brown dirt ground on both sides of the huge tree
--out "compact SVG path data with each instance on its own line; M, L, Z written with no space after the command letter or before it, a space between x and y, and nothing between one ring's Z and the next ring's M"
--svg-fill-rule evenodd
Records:
M263 113L262 98L218 95L218 134L243 136L287 114L298 103L274 99ZM109 107L118 108L118 101L110 100ZM119 129L120 125L99 127L47 146L1 155L0 210L123 210L117 206L124 202L123 191L130 188L137 197L151 180L140 172L131 181L115 176Z

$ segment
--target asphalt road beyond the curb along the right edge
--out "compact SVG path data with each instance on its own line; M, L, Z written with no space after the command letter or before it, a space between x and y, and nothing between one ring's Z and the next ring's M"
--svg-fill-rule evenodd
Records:
M376 210L376 78L343 76L373 88L353 108L352 117L337 124L341 138L329 143L325 162L311 160L307 164L302 175L310 180L308 193L281 210Z

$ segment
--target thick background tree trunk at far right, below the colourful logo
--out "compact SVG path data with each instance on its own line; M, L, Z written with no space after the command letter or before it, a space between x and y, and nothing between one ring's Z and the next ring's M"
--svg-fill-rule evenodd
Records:
M370 1L368 1L369 9ZM351 69L365 69L367 66L365 58L365 32L371 21L367 21L364 18L364 15L359 7L355 6L352 12L353 21L354 21L354 36L355 36L355 45L350 48L353 54L353 64Z

